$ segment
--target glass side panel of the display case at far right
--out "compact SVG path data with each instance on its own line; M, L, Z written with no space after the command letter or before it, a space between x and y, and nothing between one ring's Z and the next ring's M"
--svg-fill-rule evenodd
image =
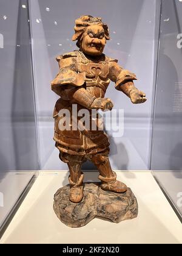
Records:
M182 214L181 13L181 1L162 1L150 159L150 169L179 216Z

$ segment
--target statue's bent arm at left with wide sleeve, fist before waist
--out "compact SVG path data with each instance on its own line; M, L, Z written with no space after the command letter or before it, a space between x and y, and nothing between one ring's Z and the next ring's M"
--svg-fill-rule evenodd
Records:
M110 99L96 98L89 93L85 87L86 74L78 73L76 59L59 58L59 73L52 81L52 90L61 96L66 101L71 101L73 104L78 103L83 107L112 109L113 105Z

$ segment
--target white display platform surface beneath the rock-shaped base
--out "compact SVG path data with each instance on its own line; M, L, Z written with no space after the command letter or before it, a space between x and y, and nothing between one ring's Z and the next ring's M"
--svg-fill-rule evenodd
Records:
M97 180L97 172L84 173L85 180ZM117 175L138 200L138 218L119 224L95 218L84 227L67 227L52 205L53 194L68 183L68 172L40 172L0 243L182 243L182 224L152 174Z

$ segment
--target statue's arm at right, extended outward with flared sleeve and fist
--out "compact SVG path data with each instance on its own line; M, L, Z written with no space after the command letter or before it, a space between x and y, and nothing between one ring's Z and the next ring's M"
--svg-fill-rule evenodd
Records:
M114 60L109 62L109 66L109 78L115 82L116 90L123 91L133 104L143 103L147 100L146 94L138 90L133 83L133 80L136 80L135 74L123 69Z

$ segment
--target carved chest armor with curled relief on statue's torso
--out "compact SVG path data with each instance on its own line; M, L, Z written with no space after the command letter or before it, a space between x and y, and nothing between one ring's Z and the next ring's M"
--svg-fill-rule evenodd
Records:
M96 97L104 97L109 85L109 62L104 59L92 61L82 53L79 54L79 72L86 73L86 90Z

